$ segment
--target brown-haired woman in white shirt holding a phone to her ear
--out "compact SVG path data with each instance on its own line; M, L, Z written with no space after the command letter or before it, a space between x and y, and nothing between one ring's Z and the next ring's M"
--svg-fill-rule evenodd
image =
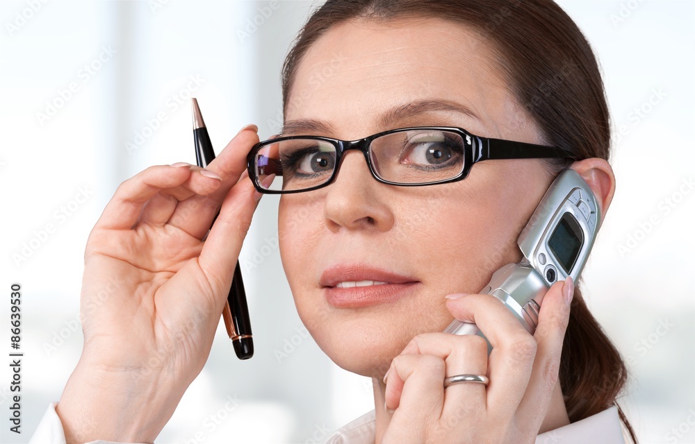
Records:
M465 128L573 159L489 160L465 180L400 187L347 151L333 182L282 196L281 257L297 311L336 364L373 378L375 412L331 439L622 442L618 414L632 435L611 407L625 367L571 280L546 294L534 336L477 294L522 259L516 238L559 171L587 181L601 220L612 200L603 83L571 19L550 0L332 0L283 74L282 136ZM107 205L85 253L83 354L44 420L59 418L68 443L154 441L202 369L261 198L245 173L256 131L243 128L207 169L142 171ZM450 158L420 154L401 163L431 173ZM307 177L331 168L295 160ZM480 327L489 357L478 336L440 333L454 318ZM489 384L445 388L461 374Z

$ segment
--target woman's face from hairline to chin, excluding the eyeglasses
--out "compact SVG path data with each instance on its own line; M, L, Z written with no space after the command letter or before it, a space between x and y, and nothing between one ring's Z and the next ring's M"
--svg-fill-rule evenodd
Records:
M283 135L456 126L541 142L496 63L473 29L439 19L334 26L297 68ZM452 321L445 295L477 293L521 259L516 238L551 180L539 160L493 160L460 182L395 187L348 151L332 185L280 200L281 257L302 321L336 364L383 375L414 336Z

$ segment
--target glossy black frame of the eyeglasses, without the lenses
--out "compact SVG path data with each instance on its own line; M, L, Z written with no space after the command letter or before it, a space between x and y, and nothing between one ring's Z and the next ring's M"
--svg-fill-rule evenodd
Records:
M390 135L393 133L402 133L404 131L412 130L436 130L436 131L447 131L448 133L456 133L461 136L464 141L464 168L461 173L457 176L445 180L436 180L434 182L425 183L402 183L402 182L391 182L383 178L379 178L377 173L374 171L372 162L369 159L369 147L374 139L383 137L385 135ZM328 142L336 148L336 168L333 171L332 176L325 183L317 185L316 187L306 188L306 189L295 189L295 190L271 190L261 187L259 184L258 176L254 169L254 158L256 154L261 151L267 145L275 144L277 142L282 142L284 140L293 139L311 139L319 140L322 142ZM525 142L514 142L512 140L504 139L493 139L490 137L481 137L469 133L464 130L464 128L457 128L453 126L411 126L409 128L396 128L394 130L382 131L382 133L377 133L364 137L363 139L357 140L341 140L332 139L331 137L322 136L284 136L277 137L276 139L268 139L263 142L255 144L249 154L247 155L247 168L249 171L249 177L254 187L261 194L294 194L294 193L304 193L306 191L313 191L315 189L320 189L327 187L336 180L338 176L338 171L341 168L341 161L345 151L357 150L361 151L364 155L364 160L367 162L372 177L377 180L377 182L384 183L386 185L395 185L397 187L426 187L429 185L439 185L443 183L457 182L459 180L464 180L468 173L470 173L473 164L477 162L482 162L483 160L508 160L508 159L574 159L575 156L568 153L563 148L557 146L546 146L537 144L528 144Z

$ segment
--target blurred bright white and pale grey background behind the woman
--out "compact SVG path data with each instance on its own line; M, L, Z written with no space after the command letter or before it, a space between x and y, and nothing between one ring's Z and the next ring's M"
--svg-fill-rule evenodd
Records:
M218 151L247 123L274 134L281 63L318 3L0 3L0 348L12 351L19 282L24 352L23 433L3 419L1 442L28 441L79 359L84 246L117 185L152 164L195 162L193 96ZM695 2L559 3L598 53L616 136L617 191L584 296L628 363L621 404L641 442L695 443ZM236 359L221 326L158 442L322 442L373 409L370 381L333 364L297 317L277 197L261 200L240 260L256 355Z

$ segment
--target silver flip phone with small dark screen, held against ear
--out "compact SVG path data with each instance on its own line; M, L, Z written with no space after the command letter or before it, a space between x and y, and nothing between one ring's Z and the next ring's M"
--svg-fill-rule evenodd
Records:
M587 182L572 169L562 171L518 237L525 260L502 266L480 293L501 300L534 334L550 285L567 276L574 281L579 278L594 246L599 219L596 198ZM458 320L444 332L483 336L475 324Z

